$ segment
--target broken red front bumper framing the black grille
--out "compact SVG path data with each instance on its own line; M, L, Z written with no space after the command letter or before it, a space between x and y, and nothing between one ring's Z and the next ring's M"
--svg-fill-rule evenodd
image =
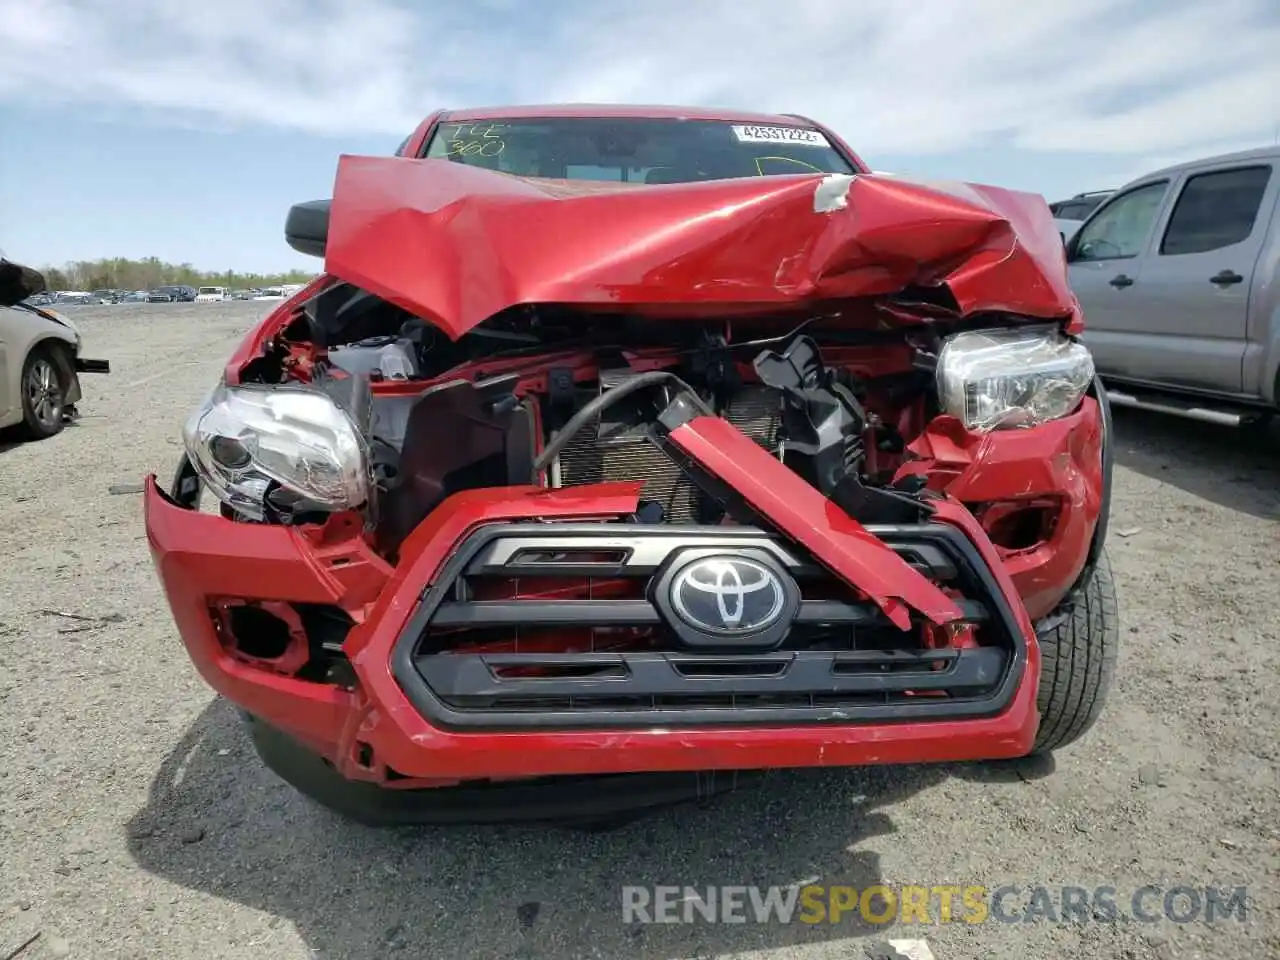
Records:
M1039 653L1029 621L1028 658L1009 708L995 717L874 726L458 733L433 727L390 671L392 646L452 547L475 525L529 516L621 513L630 489L461 494L439 508L392 571L358 539L333 547L296 530L234 524L145 490L147 535L179 632L205 680L227 699L280 727L353 780L440 781L639 771L856 765L1019 756L1038 716ZM988 545L988 552L995 559ZM1012 586L1001 573L1009 595ZM357 621L346 652L355 692L275 675L234 659L220 643L218 598L328 603ZM372 760L370 758L374 758ZM397 781L410 786L411 782Z

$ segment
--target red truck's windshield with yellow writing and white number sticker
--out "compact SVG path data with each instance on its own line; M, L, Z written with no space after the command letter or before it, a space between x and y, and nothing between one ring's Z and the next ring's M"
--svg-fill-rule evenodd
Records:
M428 159L484 166L517 177L625 183L854 173L810 127L722 120L595 119L445 123Z

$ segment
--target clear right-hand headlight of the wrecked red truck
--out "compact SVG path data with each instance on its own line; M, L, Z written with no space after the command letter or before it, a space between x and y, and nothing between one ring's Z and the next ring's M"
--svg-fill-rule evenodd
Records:
M974 330L938 356L938 402L969 430L1036 426L1064 417L1093 381L1093 357L1057 329Z

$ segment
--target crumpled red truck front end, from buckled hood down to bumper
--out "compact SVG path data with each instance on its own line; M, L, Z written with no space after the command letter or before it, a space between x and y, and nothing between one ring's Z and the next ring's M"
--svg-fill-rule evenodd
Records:
M1105 512L1042 201L344 157L326 269L147 488L250 714L383 787L1032 749Z

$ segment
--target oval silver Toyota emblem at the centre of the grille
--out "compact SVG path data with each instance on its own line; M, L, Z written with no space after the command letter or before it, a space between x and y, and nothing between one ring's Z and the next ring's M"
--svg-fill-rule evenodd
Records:
M787 593L778 575L758 561L703 557L672 579L671 607L704 634L758 634L781 620Z

